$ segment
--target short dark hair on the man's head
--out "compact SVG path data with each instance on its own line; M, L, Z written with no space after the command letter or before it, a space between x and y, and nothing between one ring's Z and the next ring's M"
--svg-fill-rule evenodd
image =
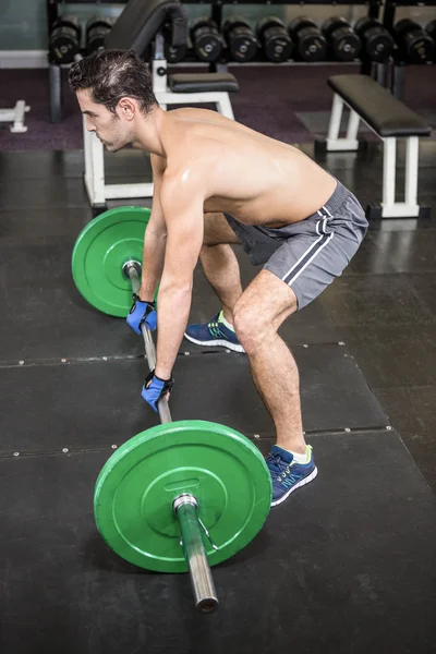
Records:
M133 50L94 52L71 65L69 82L73 90L88 89L93 100L112 113L126 96L138 100L143 113L157 105L148 64Z

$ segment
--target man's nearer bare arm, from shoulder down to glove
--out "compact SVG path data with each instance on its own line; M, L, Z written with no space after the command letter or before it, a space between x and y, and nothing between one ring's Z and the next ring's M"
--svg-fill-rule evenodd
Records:
M160 203L167 223L167 247L157 301L155 372L161 379L168 379L191 308L193 272L203 244L204 198L193 181L175 174L164 181Z

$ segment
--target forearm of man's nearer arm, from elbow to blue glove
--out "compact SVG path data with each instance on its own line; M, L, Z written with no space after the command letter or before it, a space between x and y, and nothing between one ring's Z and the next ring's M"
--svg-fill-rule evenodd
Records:
M168 379L174 366L190 315L191 299L192 284L159 290L155 373L161 379Z

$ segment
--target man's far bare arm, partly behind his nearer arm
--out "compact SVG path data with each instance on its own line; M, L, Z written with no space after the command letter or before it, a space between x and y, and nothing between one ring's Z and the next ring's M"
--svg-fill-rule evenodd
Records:
M154 299L157 284L164 268L167 227L160 206L160 189L165 160L162 157L150 155L153 168L153 208L152 216L144 234L143 271L141 277L140 298L150 302Z

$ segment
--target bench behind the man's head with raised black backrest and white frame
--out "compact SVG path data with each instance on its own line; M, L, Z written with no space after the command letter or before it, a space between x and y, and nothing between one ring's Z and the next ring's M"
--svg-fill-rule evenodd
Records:
M233 120L229 92L239 85L230 73L199 73L167 75L165 40L180 46L187 38L187 17L179 0L130 0L105 40L107 49L134 50L147 59L153 50L153 89L159 106L216 104L222 116ZM104 146L83 121L85 187L94 209L99 214L107 208L107 199L152 197L153 182L106 184Z

